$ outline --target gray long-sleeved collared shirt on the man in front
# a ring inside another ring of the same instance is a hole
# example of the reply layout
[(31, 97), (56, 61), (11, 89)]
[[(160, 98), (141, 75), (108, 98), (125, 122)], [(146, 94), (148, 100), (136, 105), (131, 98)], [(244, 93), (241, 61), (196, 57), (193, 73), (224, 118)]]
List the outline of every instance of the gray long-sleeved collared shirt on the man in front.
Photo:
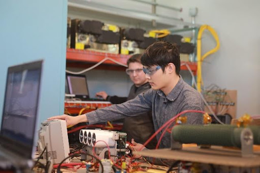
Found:
[[(132, 100), (92, 111), (87, 113), (86, 116), (89, 124), (95, 124), (143, 114), (150, 110), (152, 111), (153, 124), (156, 131), (169, 119), (182, 111), (204, 111), (204, 103), (200, 93), (185, 83), (180, 77), (174, 89), (167, 96), (161, 90), (149, 89)], [(187, 116), (188, 124), (203, 123), (203, 115), (200, 113), (186, 113), (184, 115)], [(162, 131), (157, 134), (157, 140), (159, 140), (161, 133)], [(166, 132), (159, 148), (170, 147), (170, 133)]]

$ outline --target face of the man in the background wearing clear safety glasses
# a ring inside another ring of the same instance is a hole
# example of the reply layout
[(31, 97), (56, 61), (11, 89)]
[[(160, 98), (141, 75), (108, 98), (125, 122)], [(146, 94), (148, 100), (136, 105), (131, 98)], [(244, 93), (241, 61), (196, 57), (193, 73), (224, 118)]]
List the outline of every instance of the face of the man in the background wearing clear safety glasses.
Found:
[(128, 72), (130, 79), (137, 87), (145, 84), (148, 81), (145, 78), (145, 73), (143, 72), (143, 65), (139, 62), (129, 63)]

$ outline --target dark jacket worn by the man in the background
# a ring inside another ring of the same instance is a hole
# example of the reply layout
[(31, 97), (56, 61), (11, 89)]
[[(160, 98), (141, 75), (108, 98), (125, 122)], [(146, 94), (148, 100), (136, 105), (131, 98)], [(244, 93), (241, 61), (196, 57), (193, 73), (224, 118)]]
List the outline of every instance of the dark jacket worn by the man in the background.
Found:
[[(140, 87), (133, 85), (129, 91), (128, 97), (108, 96), (107, 100), (113, 104), (120, 104), (135, 98), (138, 94), (143, 93), (150, 88), (151, 86), (149, 83), (145, 83)], [(126, 117), (123, 120), (122, 131), (127, 133), (127, 141), (134, 139), (135, 142), (144, 144), (154, 133), (151, 111), (134, 117)], [(146, 147), (148, 149), (154, 149), (156, 144), (157, 141), (154, 138)]]

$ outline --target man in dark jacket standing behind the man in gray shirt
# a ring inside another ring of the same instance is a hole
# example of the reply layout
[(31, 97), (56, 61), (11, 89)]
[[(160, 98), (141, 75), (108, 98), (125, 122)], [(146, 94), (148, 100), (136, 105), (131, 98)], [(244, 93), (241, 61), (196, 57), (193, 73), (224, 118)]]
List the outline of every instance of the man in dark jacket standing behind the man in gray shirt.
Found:
[[(105, 91), (97, 92), (95, 95), (101, 96), (113, 104), (120, 104), (150, 89), (151, 86), (143, 72), (141, 56), (142, 54), (135, 54), (127, 60), (126, 74), (129, 75), (131, 81), (134, 83), (129, 91), (128, 97), (110, 96)], [(142, 115), (124, 118), (122, 131), (127, 133), (128, 140), (134, 139), (137, 143), (145, 143), (154, 133), (151, 111)], [(156, 139), (154, 138), (146, 147), (148, 149), (154, 149), (155, 146)]]

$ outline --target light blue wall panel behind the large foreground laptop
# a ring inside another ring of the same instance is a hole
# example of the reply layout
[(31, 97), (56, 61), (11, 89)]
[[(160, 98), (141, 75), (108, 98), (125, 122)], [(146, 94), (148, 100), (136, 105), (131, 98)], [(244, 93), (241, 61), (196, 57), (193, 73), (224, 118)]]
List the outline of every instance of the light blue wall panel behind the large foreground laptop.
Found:
[(0, 112), (7, 68), (44, 59), (40, 122), (63, 114), (67, 0), (0, 1)]

